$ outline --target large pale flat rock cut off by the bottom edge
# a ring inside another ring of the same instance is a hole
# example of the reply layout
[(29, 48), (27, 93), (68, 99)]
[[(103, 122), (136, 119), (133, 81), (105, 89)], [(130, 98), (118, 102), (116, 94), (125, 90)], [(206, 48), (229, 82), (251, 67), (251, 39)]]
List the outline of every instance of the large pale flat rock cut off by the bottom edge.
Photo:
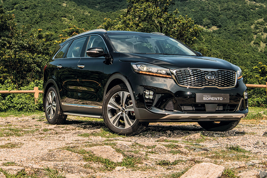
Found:
[(200, 163), (194, 165), (180, 178), (218, 178), (225, 168), (213, 163)]

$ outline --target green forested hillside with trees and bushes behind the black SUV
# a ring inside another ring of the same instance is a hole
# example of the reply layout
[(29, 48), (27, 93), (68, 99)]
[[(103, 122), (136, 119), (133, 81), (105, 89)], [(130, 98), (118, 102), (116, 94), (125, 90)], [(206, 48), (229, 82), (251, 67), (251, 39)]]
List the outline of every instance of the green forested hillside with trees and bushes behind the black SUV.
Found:
[[(267, 81), (266, 0), (1, 0), (0, 90), (41, 89), (55, 46), (96, 28), (163, 32), (241, 67), (247, 84)], [(266, 89), (248, 92), (249, 106), (267, 107)], [(41, 103), (32, 94), (0, 95), (0, 111)]]

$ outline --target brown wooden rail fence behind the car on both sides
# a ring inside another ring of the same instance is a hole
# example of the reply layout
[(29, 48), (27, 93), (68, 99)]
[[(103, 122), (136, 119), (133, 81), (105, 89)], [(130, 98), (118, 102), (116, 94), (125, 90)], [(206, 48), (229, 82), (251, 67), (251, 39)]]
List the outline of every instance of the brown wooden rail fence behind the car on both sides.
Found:
[[(267, 95), (267, 82), (266, 85), (253, 85), (253, 84), (246, 84), (247, 88), (266, 88), (266, 95)], [(0, 94), (6, 93), (34, 93), (34, 98), (37, 99), (39, 97), (39, 93), (43, 93), (42, 90), (39, 90), (38, 87), (34, 87), (34, 90), (0, 90)]]

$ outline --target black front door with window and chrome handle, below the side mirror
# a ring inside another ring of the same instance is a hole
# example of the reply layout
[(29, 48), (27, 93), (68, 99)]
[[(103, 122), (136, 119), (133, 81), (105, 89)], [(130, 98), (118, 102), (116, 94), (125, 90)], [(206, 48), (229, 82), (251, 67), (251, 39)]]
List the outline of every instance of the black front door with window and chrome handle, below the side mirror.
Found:
[(101, 36), (91, 35), (77, 68), (77, 107), (81, 113), (101, 115), (105, 57), (88, 57), (85, 52), (91, 47), (102, 47), (107, 53)]

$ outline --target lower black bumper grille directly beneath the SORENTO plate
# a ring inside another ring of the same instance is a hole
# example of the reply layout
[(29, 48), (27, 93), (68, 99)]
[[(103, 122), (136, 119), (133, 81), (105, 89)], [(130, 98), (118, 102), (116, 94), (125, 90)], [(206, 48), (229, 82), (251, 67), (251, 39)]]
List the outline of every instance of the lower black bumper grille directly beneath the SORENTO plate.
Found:
[[(181, 104), (184, 112), (206, 112), (205, 104)], [(238, 104), (217, 104), (215, 112), (234, 112)]]

